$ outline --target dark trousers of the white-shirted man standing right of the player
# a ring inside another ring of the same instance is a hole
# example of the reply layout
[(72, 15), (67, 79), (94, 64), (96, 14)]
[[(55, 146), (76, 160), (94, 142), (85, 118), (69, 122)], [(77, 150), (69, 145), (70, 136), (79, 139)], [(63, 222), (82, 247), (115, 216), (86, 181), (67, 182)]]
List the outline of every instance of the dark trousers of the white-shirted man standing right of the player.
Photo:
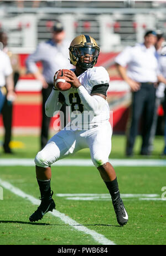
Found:
[(131, 125), (127, 136), (127, 154), (132, 154), (134, 142), (138, 134), (139, 120), (142, 116), (142, 154), (148, 153), (149, 137), (153, 123), (155, 108), (155, 87), (153, 83), (141, 83), (141, 89), (133, 92)]

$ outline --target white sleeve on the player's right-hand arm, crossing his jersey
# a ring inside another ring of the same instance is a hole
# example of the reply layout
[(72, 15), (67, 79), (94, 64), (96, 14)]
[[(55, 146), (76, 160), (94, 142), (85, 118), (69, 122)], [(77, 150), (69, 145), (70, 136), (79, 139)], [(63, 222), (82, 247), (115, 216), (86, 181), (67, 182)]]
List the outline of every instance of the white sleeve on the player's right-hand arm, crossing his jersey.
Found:
[(84, 86), (80, 86), (77, 88), (82, 104), (84, 104), (85, 108), (88, 111), (94, 111), (94, 114), (97, 115), (100, 112), (103, 105), (105, 105), (105, 99), (101, 96), (94, 95), (91, 96), (87, 92)]

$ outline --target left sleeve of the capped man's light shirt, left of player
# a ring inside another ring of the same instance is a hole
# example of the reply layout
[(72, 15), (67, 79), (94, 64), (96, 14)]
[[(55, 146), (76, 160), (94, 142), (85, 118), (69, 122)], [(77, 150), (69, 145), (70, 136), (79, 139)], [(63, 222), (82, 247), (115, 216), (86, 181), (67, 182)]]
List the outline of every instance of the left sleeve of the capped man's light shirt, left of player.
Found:
[(42, 45), (39, 45), (37, 47), (37, 50), (31, 55), (29, 55), (27, 60), (25, 61), (28, 72), (35, 73), (38, 71), (38, 67), (35, 64), (35, 62), (42, 61), (42, 56), (43, 56)]

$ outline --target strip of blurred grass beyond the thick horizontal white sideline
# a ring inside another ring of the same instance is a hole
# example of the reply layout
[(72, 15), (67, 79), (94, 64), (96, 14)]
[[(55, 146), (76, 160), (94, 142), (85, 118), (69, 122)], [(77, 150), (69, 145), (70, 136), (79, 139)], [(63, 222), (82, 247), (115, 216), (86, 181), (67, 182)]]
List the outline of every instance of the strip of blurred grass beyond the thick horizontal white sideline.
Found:
[[(2, 136), (0, 136), (0, 145), (3, 140)], [(13, 137), (14, 144), (19, 142), (21, 145), (16, 145), (13, 149), (14, 155), (12, 158), (34, 158), (35, 154), (39, 151), (39, 137), (38, 136), (14, 136)], [(112, 136), (112, 151), (110, 157), (112, 159), (122, 159), (125, 158), (125, 145), (126, 145), (126, 137), (123, 135), (113, 135)], [(136, 144), (134, 147), (134, 156), (133, 159), (141, 159), (142, 156), (139, 155), (141, 149), (141, 137), (138, 136), (136, 139)], [(164, 137), (156, 136), (154, 140), (154, 150), (152, 152), (152, 156), (149, 157), (151, 159), (163, 159), (160, 155), (162, 154), (164, 149)], [(0, 157), (8, 158), (10, 157), (7, 154), (3, 154), (3, 151), (0, 147)], [(84, 149), (74, 156), (70, 156), (71, 158), (89, 158), (90, 152), (89, 149)], [(164, 157), (166, 159), (166, 156)]]

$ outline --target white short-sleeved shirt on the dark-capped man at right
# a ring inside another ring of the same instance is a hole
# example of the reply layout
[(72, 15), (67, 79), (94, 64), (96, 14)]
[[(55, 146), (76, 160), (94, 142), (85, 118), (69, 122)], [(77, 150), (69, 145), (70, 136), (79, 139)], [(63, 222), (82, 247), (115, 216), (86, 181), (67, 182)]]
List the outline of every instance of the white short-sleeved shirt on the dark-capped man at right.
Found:
[(126, 47), (116, 58), (119, 65), (127, 66), (127, 75), (136, 82), (157, 82), (159, 75), (155, 47), (146, 48), (143, 43)]

